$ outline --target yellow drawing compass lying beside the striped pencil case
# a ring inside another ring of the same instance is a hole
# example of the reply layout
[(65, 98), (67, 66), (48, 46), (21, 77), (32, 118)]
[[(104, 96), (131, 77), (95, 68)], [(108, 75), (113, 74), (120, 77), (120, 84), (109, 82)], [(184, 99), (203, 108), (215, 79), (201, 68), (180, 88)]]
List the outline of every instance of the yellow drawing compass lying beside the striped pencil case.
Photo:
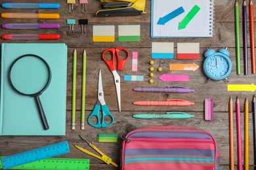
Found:
[(96, 155), (96, 154), (93, 154), (92, 152), (90, 152), (90, 151), (88, 151), (88, 150), (85, 150), (84, 148), (81, 148), (80, 146), (75, 145), (75, 148), (77, 148), (77, 149), (81, 150), (82, 152), (85, 152), (86, 154), (89, 154), (89, 155), (91, 155), (91, 156), (93, 156), (93, 157), (95, 157), (95, 158), (98, 158), (99, 160), (104, 161), (104, 162), (107, 163), (108, 165), (109, 165), (109, 164), (112, 164), (112, 165), (114, 165), (115, 167), (118, 167), (118, 165), (117, 165), (116, 163), (114, 163), (110, 157), (108, 157), (108, 156), (106, 156), (105, 154), (103, 154), (103, 152), (101, 152), (98, 148), (96, 148), (96, 146), (95, 146), (94, 144), (89, 143), (86, 139), (83, 139), (83, 137), (81, 137), (81, 135), (79, 135), (79, 137), (80, 137), (83, 141), (85, 141), (86, 143), (88, 143), (89, 146), (91, 146), (94, 150), (96, 150), (96, 151), (101, 155), (101, 157), (98, 156), (98, 155)]

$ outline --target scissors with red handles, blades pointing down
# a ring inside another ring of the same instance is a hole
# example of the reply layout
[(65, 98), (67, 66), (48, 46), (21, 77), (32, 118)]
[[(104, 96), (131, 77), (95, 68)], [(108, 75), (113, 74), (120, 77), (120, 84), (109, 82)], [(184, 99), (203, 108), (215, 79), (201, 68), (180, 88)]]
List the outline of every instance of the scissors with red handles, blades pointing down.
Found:
[[(121, 51), (126, 52), (126, 57), (124, 59), (121, 59), (119, 56), (119, 53)], [(112, 59), (108, 60), (105, 58), (106, 52), (112, 53)], [(115, 56), (117, 57), (117, 69), (115, 64)], [(108, 65), (108, 68), (112, 72), (112, 75), (114, 76), (114, 81), (116, 85), (116, 96), (117, 96), (117, 107), (118, 112), (121, 112), (121, 87), (120, 87), (120, 75), (121, 71), (123, 71), (123, 67), (125, 66), (125, 62), (129, 58), (129, 52), (125, 48), (117, 47), (117, 48), (108, 48), (105, 50), (102, 54), (102, 59), (106, 62)]]

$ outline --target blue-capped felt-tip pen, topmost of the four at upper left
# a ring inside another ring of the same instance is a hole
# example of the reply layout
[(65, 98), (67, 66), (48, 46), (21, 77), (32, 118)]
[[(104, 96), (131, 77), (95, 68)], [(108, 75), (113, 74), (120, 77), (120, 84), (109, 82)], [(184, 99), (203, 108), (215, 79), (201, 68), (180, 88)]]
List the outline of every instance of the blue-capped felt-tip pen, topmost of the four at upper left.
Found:
[(58, 3), (2, 3), (4, 9), (59, 9)]

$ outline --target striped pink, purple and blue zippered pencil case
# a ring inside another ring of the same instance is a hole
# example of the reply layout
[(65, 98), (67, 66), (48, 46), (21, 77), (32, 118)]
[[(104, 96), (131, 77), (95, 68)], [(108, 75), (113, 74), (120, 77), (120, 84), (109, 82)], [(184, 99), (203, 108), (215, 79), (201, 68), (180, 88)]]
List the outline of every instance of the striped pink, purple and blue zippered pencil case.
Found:
[(221, 154), (210, 133), (194, 127), (149, 126), (123, 137), (121, 169), (219, 169)]

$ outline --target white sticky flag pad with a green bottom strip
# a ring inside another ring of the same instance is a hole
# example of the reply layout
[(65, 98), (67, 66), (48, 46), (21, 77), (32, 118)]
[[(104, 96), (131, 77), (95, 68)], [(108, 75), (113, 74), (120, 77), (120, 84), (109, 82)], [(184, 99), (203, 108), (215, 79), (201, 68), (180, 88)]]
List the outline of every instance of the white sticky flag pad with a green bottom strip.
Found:
[(140, 25), (118, 25), (118, 41), (140, 41)]

